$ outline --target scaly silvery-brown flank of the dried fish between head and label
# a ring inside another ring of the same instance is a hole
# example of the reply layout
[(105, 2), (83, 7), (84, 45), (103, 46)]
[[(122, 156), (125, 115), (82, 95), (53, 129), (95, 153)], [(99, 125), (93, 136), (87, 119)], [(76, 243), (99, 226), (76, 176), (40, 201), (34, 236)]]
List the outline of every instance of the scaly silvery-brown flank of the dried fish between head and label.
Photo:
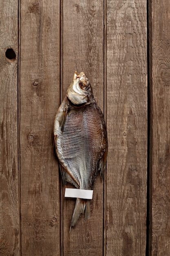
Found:
[(97, 175), (103, 144), (101, 117), (94, 104), (71, 108), (57, 139), (64, 167), (79, 182), (80, 189), (92, 189)]

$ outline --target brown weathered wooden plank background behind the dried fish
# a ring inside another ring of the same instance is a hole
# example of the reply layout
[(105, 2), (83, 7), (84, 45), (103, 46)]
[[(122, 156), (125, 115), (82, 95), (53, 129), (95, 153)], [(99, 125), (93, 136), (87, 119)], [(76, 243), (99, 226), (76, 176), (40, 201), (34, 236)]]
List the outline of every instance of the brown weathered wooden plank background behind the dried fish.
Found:
[[(168, 0), (0, 1), (1, 256), (170, 255), (169, 13)], [(108, 159), (69, 233), (53, 122), (75, 70)]]

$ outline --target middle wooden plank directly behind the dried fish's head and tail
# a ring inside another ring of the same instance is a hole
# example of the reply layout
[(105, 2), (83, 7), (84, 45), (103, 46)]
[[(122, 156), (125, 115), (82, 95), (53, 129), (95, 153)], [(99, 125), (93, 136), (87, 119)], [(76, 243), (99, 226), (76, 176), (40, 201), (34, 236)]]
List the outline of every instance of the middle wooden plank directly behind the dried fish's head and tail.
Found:
[[(104, 109), (104, 11), (103, 2), (63, 0), (63, 96), (75, 70), (85, 72), (99, 107)], [(66, 187), (71, 187), (67, 184)], [(65, 188), (64, 188), (65, 189)], [(70, 229), (75, 200), (64, 198), (63, 255), (103, 255), (103, 182), (95, 182), (91, 217), (82, 216)]]

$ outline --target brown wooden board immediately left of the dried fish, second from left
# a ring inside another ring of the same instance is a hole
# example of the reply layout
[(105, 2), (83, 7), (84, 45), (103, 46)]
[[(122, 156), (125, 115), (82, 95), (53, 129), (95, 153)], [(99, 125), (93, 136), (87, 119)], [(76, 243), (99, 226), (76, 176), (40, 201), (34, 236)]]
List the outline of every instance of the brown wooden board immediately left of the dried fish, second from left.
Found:
[(22, 255), (60, 255), (53, 122), (60, 103), (60, 2), (21, 2)]

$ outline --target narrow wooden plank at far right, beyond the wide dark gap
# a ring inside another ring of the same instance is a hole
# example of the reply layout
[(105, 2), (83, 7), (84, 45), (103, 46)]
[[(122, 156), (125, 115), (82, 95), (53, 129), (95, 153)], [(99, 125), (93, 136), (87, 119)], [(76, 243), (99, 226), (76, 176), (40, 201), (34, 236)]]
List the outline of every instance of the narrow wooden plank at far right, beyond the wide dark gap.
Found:
[(150, 191), (152, 231), (150, 255), (170, 255), (170, 4), (152, 1), (150, 44)]

